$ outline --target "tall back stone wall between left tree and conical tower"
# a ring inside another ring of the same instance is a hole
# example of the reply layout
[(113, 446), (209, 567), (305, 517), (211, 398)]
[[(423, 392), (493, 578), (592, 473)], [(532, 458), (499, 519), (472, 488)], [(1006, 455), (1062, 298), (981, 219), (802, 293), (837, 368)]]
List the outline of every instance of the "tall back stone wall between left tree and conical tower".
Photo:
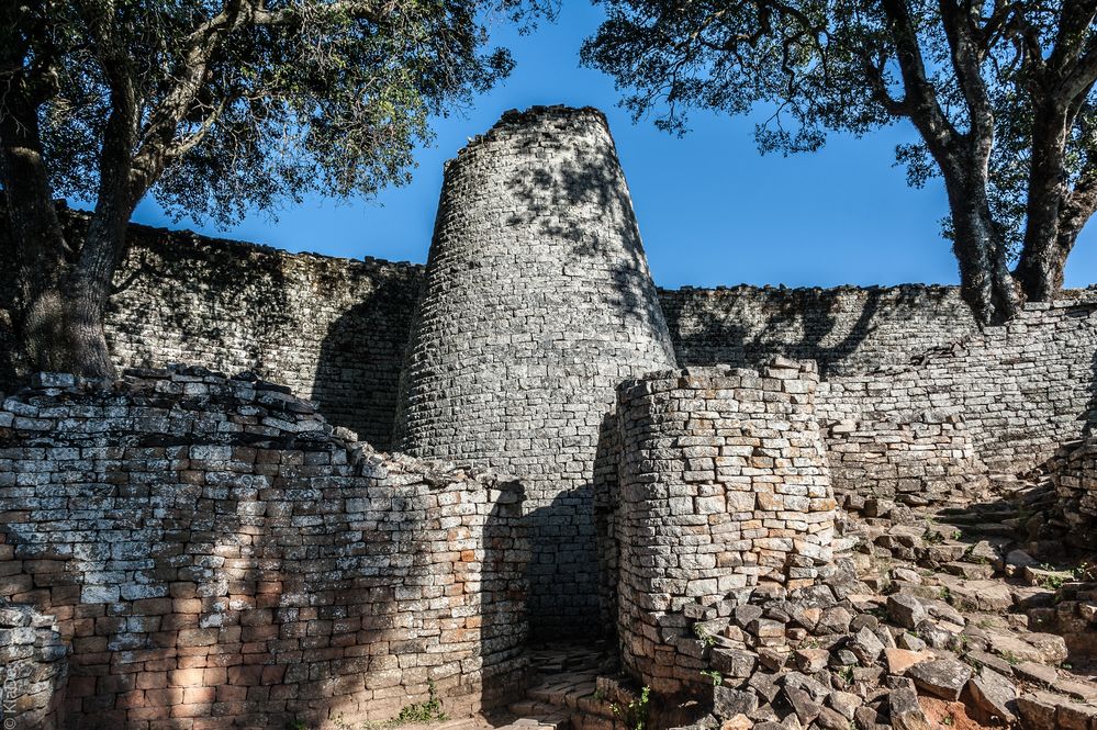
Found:
[[(65, 221), (80, 238), (87, 216), (68, 211)], [(329, 423), (379, 449), (391, 446), (422, 266), (294, 255), (141, 225), (127, 235), (132, 247), (107, 315), (120, 367), (254, 371), (318, 403)], [(0, 353), (11, 352), (3, 319), (0, 312)], [(4, 371), (0, 363), (0, 392), (10, 385)]]

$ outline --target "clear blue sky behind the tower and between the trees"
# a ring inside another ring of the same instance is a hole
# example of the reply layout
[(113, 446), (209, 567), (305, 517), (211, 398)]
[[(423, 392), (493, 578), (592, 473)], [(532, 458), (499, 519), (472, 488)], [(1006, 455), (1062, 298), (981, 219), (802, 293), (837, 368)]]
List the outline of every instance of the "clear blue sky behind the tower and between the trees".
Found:
[[(940, 181), (906, 186), (894, 147), (914, 139), (906, 125), (863, 139), (833, 136), (819, 153), (761, 156), (753, 120), (693, 114), (674, 137), (650, 122), (634, 125), (616, 106), (613, 81), (579, 67), (579, 47), (601, 19), (586, 2), (563, 3), (556, 23), (519, 37), (500, 23), (493, 43), (508, 46), (514, 74), (470, 109), (437, 120), (433, 147), (419, 150), (411, 184), (372, 202), (309, 199), (272, 221), (250, 215), (219, 231), (168, 220), (150, 200), (138, 223), (188, 227), (292, 251), (425, 261), (441, 188), (443, 162), (503, 111), (533, 104), (593, 105), (606, 112), (633, 194), (656, 282), (662, 287), (842, 283), (955, 283), (956, 265), (939, 221)], [(1068, 287), (1097, 282), (1097, 223), (1067, 265)]]

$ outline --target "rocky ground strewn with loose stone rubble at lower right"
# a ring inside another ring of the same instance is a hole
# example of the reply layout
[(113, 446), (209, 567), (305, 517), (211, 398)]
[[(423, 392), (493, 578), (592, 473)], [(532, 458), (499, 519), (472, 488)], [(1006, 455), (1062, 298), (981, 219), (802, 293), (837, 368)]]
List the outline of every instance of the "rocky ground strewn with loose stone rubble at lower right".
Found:
[(1062, 554), (1045, 486), (997, 494), (964, 508), (849, 498), (847, 557), (818, 585), (755, 591), (729, 618), (696, 611), (710, 695), (645, 699), (611, 652), (548, 647), (527, 700), (493, 725), (1097, 730), (1097, 574)]

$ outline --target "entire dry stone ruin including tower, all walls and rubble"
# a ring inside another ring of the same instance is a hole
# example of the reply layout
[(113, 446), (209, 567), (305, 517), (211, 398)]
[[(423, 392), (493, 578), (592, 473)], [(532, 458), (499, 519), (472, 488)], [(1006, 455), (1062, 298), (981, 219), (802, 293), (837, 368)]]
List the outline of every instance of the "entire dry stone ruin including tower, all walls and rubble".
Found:
[(0, 308), (0, 730), (1097, 730), (1097, 290), (659, 291), (562, 106), (426, 267), (131, 237), (120, 380)]

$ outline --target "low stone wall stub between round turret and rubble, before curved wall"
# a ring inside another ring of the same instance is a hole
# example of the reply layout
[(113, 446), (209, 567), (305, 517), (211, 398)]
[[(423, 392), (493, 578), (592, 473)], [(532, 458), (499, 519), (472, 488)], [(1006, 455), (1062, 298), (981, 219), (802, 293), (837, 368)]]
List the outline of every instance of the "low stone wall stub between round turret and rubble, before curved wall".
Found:
[(958, 413), (924, 411), (824, 424), (835, 493), (909, 505), (969, 504), (989, 487)]

